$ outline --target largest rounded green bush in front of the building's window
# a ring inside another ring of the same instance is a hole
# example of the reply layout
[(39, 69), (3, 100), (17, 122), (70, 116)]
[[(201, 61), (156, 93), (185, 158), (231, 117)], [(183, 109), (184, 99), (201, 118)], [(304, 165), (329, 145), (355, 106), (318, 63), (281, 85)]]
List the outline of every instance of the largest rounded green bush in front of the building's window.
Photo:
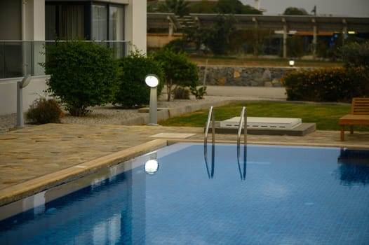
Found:
[(118, 66), (112, 49), (93, 42), (58, 41), (46, 47), (48, 92), (66, 104), (72, 116), (84, 116), (88, 106), (112, 102)]

